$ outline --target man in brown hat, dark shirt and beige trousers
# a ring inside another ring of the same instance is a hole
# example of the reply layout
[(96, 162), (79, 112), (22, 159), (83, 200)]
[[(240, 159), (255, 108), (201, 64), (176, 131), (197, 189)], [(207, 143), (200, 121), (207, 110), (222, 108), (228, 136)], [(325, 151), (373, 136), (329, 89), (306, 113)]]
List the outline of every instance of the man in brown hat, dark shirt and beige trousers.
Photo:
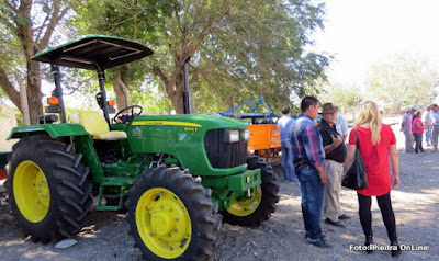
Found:
[(340, 219), (348, 219), (340, 205), (341, 175), (347, 149), (341, 134), (337, 132), (336, 120), (338, 110), (333, 103), (325, 103), (322, 106), (322, 122), (317, 129), (323, 139), (325, 150), (325, 171), (328, 175), (328, 183), (325, 189), (325, 223), (345, 227)]

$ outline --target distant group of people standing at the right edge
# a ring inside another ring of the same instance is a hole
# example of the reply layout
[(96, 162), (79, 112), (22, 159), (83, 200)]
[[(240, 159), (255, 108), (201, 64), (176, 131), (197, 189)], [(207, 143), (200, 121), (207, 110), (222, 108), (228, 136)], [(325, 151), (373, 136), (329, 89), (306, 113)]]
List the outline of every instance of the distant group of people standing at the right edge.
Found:
[(439, 136), (439, 106), (431, 104), (425, 112), (417, 111), (415, 107), (405, 107), (405, 114), (401, 124), (401, 130), (405, 136), (406, 152), (425, 152), (423, 147), (423, 136), (427, 146), (432, 146), (431, 152), (438, 150)]

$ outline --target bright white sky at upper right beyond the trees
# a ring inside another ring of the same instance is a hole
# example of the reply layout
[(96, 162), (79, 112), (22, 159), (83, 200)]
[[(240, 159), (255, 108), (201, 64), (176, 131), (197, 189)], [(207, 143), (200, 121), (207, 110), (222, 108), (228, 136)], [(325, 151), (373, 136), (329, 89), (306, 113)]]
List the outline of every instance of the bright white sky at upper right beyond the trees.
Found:
[[(335, 55), (329, 80), (362, 86), (374, 64), (402, 54), (439, 61), (439, 0), (326, 0), (315, 50)], [(438, 63), (439, 64), (439, 63)]]

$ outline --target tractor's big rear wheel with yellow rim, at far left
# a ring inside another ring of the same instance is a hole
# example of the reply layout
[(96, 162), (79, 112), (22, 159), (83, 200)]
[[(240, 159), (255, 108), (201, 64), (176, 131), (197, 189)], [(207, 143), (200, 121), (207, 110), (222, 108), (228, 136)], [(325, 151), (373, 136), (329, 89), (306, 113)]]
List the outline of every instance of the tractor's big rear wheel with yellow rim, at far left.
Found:
[(92, 205), (88, 168), (71, 145), (47, 135), (22, 138), (12, 148), (5, 188), (12, 213), (33, 241), (59, 241), (75, 235)]

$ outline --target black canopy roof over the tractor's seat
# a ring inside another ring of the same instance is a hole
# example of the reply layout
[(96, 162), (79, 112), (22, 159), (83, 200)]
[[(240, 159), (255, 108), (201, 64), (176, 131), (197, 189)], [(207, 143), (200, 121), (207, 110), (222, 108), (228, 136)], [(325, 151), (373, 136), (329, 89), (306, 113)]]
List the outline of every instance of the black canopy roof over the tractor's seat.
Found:
[(153, 50), (148, 47), (130, 39), (87, 35), (40, 52), (32, 59), (58, 66), (103, 71), (151, 54)]

